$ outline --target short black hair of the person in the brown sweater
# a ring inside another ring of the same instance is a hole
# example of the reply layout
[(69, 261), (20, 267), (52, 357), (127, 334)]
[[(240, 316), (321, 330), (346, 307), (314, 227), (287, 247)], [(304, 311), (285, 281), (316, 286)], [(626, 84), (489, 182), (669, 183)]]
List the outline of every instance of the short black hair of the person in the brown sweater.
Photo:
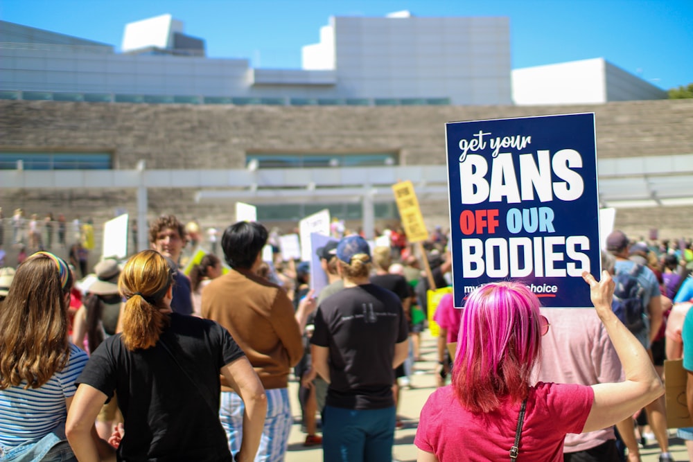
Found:
[(250, 269), (267, 244), (267, 228), (258, 222), (237, 222), (224, 231), (221, 248), (231, 268)]

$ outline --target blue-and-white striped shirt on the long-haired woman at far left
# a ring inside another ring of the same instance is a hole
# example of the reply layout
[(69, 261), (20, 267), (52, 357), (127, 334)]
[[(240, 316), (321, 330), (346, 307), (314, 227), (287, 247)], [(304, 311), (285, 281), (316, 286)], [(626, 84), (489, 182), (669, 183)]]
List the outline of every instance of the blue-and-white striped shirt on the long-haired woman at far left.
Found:
[(75, 380), (87, 364), (87, 353), (70, 344), (67, 366), (37, 389), (0, 390), (0, 445), (15, 447), (37, 441), (67, 418), (65, 398), (77, 391)]

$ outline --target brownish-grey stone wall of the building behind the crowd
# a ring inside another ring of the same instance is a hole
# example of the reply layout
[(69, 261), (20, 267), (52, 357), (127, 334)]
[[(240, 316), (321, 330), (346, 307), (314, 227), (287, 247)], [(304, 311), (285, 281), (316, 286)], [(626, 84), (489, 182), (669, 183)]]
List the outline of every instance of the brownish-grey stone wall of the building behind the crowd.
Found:
[[(397, 152), (403, 165), (444, 164), (449, 121), (595, 112), (600, 159), (693, 153), (693, 100), (605, 105), (483, 107), (280, 107), (145, 105), (0, 100), (0, 150), (111, 152), (114, 168), (242, 168), (252, 152)], [(173, 186), (173, 185), (172, 185)], [(150, 190), (150, 217), (176, 213), (203, 226), (225, 226), (233, 203), (195, 204), (193, 191)], [(93, 217), (96, 224), (125, 208), (134, 190), (8, 190), (5, 216), (28, 213)], [(422, 201), (427, 224), (447, 226), (448, 204)], [(295, 224), (282, 224), (287, 231)], [(354, 228), (356, 223), (350, 224)], [(385, 224), (379, 223), (378, 226)], [(616, 226), (633, 236), (693, 235), (693, 206), (619, 210)]]

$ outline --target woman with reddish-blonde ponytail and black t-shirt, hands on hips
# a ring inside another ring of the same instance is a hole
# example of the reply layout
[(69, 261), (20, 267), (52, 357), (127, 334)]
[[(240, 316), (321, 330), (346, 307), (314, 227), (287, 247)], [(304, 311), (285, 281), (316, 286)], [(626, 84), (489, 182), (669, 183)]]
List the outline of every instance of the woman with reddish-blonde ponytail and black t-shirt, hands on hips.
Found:
[(80, 460), (96, 460), (88, 423), (116, 392), (125, 418), (119, 459), (231, 461), (218, 416), (220, 374), (245, 402), (236, 460), (254, 459), (267, 409), (262, 384), (227, 330), (171, 310), (172, 283), (157, 251), (141, 251), (125, 264), (118, 283), (127, 299), (123, 331), (91, 353), (67, 418)]

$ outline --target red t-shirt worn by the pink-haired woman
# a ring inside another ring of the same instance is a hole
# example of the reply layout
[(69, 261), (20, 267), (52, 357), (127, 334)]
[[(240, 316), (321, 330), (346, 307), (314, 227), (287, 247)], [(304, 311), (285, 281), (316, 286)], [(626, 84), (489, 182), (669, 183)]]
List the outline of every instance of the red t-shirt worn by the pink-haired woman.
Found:
[[(582, 431), (593, 401), (593, 389), (584, 385), (539, 382), (532, 387), (518, 459), (562, 462), (565, 434)], [(448, 385), (434, 391), (421, 409), (414, 444), (440, 462), (508, 460), (519, 414), (520, 403), (472, 414)]]

